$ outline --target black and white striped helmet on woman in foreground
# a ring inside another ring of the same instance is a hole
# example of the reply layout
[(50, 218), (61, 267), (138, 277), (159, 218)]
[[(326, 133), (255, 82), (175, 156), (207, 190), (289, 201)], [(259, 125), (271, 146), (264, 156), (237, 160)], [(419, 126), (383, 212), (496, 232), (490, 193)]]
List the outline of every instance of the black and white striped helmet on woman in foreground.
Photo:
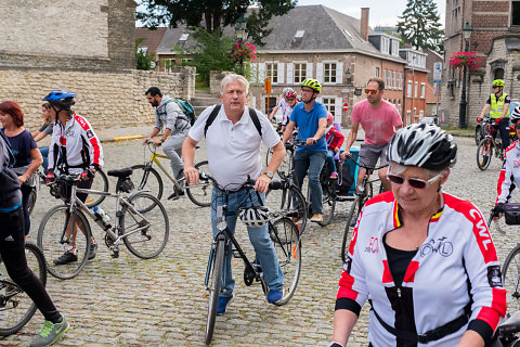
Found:
[(435, 125), (413, 124), (393, 134), (388, 159), (441, 171), (457, 162), (457, 145), (451, 134)]

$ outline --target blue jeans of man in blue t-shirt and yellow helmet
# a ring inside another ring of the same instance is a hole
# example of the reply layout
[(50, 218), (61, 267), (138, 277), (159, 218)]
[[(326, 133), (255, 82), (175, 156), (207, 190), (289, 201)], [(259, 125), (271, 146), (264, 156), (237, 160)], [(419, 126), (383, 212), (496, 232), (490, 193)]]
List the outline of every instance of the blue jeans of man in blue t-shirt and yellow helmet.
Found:
[(295, 155), (295, 171), (298, 180), (298, 185), (303, 184), (303, 178), (309, 171), (309, 189), (311, 190), (311, 209), (313, 214), (322, 214), (322, 184), (320, 184), (320, 174), (322, 172), (323, 164), (326, 157), (325, 151), (302, 151), (296, 152)]

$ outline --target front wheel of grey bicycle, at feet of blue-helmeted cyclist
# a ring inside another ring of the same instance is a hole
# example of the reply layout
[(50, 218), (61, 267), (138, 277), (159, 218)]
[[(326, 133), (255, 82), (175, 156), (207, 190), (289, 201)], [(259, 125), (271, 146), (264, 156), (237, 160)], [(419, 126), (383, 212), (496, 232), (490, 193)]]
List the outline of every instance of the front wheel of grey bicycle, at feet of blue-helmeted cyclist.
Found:
[(92, 237), (89, 221), (83, 213), (77, 209), (76, 223), (79, 230), (73, 252), (76, 256), (70, 256), (70, 261), (66, 264), (58, 260), (69, 250), (67, 247), (72, 245), (69, 235), (73, 216), (68, 209), (67, 205), (54, 206), (43, 216), (38, 229), (38, 246), (46, 256), (47, 270), (61, 280), (73, 279), (84, 268)]

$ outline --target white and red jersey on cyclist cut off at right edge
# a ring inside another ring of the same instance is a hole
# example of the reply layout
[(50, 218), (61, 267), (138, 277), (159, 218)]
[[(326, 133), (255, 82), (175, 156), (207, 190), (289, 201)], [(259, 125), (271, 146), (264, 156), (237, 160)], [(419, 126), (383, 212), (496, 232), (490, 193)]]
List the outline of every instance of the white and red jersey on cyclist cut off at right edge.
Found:
[(504, 154), (504, 164), (502, 165), (498, 183), (496, 187), (496, 203), (507, 203), (512, 197), (512, 191), (520, 183), (520, 142), (512, 142)]

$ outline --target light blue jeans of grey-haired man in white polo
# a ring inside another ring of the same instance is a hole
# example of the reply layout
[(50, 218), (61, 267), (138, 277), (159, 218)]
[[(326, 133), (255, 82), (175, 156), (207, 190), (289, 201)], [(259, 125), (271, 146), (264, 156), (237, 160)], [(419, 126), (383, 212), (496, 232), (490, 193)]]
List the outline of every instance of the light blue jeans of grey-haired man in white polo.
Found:
[[(264, 200), (264, 195), (260, 194)], [(217, 206), (227, 205), (225, 221), (227, 229), (232, 234), (235, 234), (236, 219), (238, 208), (243, 206), (260, 205), (257, 193), (251, 190), (239, 190), (238, 192), (230, 193), (227, 195), (227, 203), (225, 202), (225, 193), (214, 189), (211, 192), (211, 228), (213, 230), (213, 237), (220, 232), (217, 229)], [(268, 224), (260, 228), (247, 228), (249, 241), (255, 248), (257, 260), (260, 262), (263, 271), (263, 279), (270, 290), (282, 290), (284, 286), (284, 273), (280, 267), (276, 252), (273, 242), (269, 236)], [(235, 280), (231, 271), (231, 259), (233, 254), (229, 252), (224, 257), (224, 271), (222, 273), (222, 288), (224, 293), (221, 296), (231, 296), (235, 286)], [(250, 259), (252, 260), (252, 259)]]

